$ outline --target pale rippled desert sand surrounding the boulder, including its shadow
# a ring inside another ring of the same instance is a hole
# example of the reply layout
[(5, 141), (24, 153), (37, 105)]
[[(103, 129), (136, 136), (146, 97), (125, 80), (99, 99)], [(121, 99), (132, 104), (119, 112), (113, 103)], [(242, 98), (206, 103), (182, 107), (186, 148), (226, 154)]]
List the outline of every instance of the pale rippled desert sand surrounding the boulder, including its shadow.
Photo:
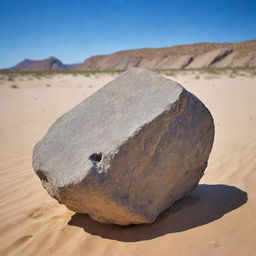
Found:
[(216, 136), (201, 184), (154, 224), (99, 224), (59, 205), (42, 188), (31, 167), (34, 144), (59, 115), (113, 78), (0, 80), (0, 255), (256, 255), (252, 77), (173, 78), (210, 109)]

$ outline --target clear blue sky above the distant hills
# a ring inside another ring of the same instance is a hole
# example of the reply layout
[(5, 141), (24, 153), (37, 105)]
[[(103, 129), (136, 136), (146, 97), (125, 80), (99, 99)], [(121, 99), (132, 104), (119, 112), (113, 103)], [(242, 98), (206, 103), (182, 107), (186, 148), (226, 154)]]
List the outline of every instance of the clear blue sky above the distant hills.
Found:
[(0, 0), (0, 68), (119, 50), (256, 39), (255, 0)]

